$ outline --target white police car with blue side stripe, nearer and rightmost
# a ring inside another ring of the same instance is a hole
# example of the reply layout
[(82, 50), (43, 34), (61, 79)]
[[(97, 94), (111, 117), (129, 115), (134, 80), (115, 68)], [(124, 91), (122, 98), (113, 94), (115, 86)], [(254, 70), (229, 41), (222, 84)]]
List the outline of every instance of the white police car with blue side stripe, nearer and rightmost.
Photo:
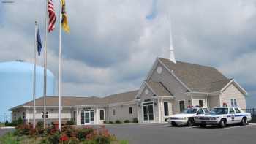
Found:
[(210, 124), (218, 125), (221, 128), (227, 126), (227, 124), (246, 125), (251, 120), (251, 113), (244, 113), (238, 107), (215, 107), (210, 113), (195, 118), (195, 121), (202, 127)]

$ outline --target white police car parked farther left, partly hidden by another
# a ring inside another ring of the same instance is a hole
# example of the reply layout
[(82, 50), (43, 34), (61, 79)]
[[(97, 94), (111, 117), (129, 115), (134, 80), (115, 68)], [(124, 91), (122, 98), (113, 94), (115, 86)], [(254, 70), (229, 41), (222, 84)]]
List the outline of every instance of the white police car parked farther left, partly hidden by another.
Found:
[(177, 126), (177, 124), (192, 126), (195, 124), (195, 116), (204, 115), (208, 112), (209, 110), (206, 107), (191, 107), (181, 113), (170, 115), (167, 121), (172, 126)]

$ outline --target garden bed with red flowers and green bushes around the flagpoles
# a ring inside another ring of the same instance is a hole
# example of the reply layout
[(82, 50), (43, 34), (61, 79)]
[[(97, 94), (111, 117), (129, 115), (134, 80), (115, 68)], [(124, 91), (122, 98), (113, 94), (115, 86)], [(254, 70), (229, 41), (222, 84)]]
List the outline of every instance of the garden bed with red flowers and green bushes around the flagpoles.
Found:
[(4, 144), (127, 144), (127, 141), (118, 141), (115, 135), (110, 134), (104, 126), (94, 129), (90, 126), (76, 127), (70, 125), (61, 126), (54, 124), (43, 129), (42, 122), (37, 123), (35, 129), (31, 124), (20, 124), (16, 126), (14, 132), (5, 134), (0, 138), (0, 143)]

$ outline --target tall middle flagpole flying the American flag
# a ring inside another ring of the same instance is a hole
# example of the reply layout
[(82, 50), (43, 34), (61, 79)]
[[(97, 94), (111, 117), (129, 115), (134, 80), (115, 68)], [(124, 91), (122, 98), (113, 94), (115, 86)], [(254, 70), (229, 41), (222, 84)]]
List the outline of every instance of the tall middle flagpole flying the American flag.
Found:
[(46, 10), (45, 10), (45, 58), (44, 58), (44, 129), (46, 133), (46, 76), (47, 76), (47, 33), (48, 33), (48, 0), (46, 0)]

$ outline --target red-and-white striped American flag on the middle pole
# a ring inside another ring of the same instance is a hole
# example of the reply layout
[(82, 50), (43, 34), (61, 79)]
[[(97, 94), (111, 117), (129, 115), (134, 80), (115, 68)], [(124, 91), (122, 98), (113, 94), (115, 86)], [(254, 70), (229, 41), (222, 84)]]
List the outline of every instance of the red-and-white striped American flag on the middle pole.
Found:
[(49, 27), (48, 31), (51, 32), (55, 29), (56, 15), (53, 7), (53, 0), (48, 0), (48, 14), (49, 14)]

